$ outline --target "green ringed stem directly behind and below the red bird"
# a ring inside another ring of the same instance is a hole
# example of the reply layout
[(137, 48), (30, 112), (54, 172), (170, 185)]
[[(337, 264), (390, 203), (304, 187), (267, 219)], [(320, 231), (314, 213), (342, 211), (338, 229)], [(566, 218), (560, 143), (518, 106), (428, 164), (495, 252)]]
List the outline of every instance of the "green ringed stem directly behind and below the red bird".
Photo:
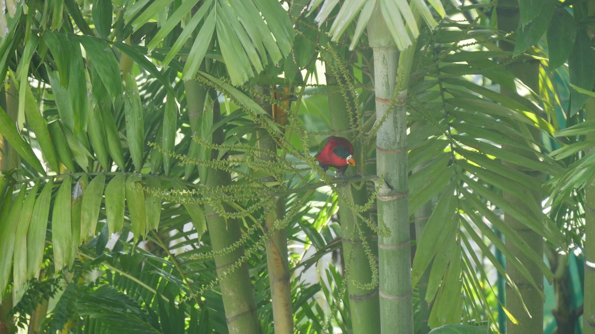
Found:
[[(349, 57), (346, 57), (349, 58)], [(346, 59), (344, 58), (344, 59)], [(330, 59), (329, 59), (330, 60)], [(338, 60), (338, 59), (337, 59)], [(326, 80), (328, 86), (337, 84), (337, 77), (333, 73), (339, 71), (340, 64), (326, 65)], [(331, 68), (334, 67), (334, 68)], [(343, 81), (348, 80), (346, 75), (340, 79), (342, 90), (346, 89)], [(349, 93), (333, 93), (328, 94), (328, 110), (330, 117), (330, 124), (332, 131), (348, 130), (351, 127), (351, 120), (355, 114), (355, 107), (349, 103), (349, 99), (345, 98)], [(361, 153), (361, 146), (354, 140), (352, 132), (342, 132), (341, 136), (346, 137), (351, 141), (355, 150), (356, 157), (363, 157)], [(356, 167), (359, 171), (364, 171), (365, 162), (362, 159), (356, 162)], [(348, 168), (347, 174), (355, 174), (355, 168)], [(349, 298), (349, 307), (351, 313), (352, 333), (379, 333), (380, 332), (380, 303), (378, 301), (378, 285), (374, 284), (374, 272), (376, 272), (377, 264), (373, 263), (374, 268), (366, 254), (365, 247), (369, 247), (374, 257), (378, 255), (377, 246), (375, 245), (374, 233), (368, 227), (367, 223), (358, 219), (354, 208), (350, 207), (349, 203), (353, 202), (360, 206), (367, 202), (368, 196), (366, 187), (356, 189), (352, 184), (340, 187), (339, 196), (339, 222), (342, 231), (342, 246), (345, 263), (345, 270), (347, 276), (347, 295)]]

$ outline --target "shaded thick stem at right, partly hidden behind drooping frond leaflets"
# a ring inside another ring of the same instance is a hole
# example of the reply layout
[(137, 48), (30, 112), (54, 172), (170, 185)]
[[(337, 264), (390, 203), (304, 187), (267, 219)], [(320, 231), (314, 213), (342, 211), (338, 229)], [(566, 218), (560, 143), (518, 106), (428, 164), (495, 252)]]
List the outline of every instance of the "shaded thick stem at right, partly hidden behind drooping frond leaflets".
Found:
[[(504, 0), (498, 2), (497, 7), (497, 18), (498, 18), (498, 29), (502, 31), (515, 31), (519, 24), (519, 8), (516, 0)], [(503, 51), (513, 51), (515, 46), (504, 40), (500, 41), (500, 48)], [(518, 77), (528, 87), (533, 89), (535, 92), (539, 90), (539, 62), (537, 59), (520, 58), (507, 66), (507, 69), (511, 71), (515, 77)], [(516, 96), (516, 92), (511, 92), (505, 87), (500, 87), (500, 92), (505, 96)], [(519, 127), (524, 125), (519, 124)], [(536, 128), (530, 129), (531, 134), (536, 142), (540, 141), (540, 132)], [(513, 146), (503, 146), (503, 149), (515, 152), (516, 149)], [(522, 154), (522, 153), (519, 153)], [(541, 173), (538, 171), (531, 171), (523, 168), (522, 166), (515, 165), (510, 162), (503, 162), (503, 165), (509, 168), (515, 168), (519, 171), (524, 172), (531, 178), (541, 178)], [(506, 201), (515, 203), (518, 198), (510, 193), (503, 193), (503, 197)], [(538, 193), (533, 193), (533, 196), (524, 198), (527, 206), (540, 207), (541, 197)], [(533, 203), (529, 203), (532, 201)], [(513, 218), (512, 215), (505, 213), (505, 223), (511, 227), (519, 237), (527, 243), (527, 245), (533, 249), (538, 256), (543, 258), (543, 237), (537, 232), (527, 228), (519, 220)], [(506, 308), (508, 311), (518, 320), (518, 324), (508, 321), (506, 324), (506, 333), (508, 334), (526, 334), (526, 333), (543, 333), (543, 273), (537, 263), (531, 260), (530, 257), (526, 256), (523, 251), (511, 243), (507, 243), (506, 247), (511, 250), (512, 254), (515, 254), (516, 259), (520, 260), (522, 264), (527, 268), (531, 275), (531, 278), (536, 283), (539, 289), (535, 289), (533, 285), (523, 276), (520, 270), (516, 268), (509, 259), (506, 259), (506, 272), (508, 273), (512, 282), (516, 283), (519, 292), (521, 293), (522, 301), (516, 297), (513, 293), (512, 288), (506, 285)], [(526, 305), (527, 311), (524, 306)]]

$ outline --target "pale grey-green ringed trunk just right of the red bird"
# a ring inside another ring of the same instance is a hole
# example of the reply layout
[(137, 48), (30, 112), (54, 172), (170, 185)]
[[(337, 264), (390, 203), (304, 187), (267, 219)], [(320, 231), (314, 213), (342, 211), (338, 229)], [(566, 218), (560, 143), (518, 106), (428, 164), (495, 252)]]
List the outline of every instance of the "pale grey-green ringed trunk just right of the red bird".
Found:
[(382, 122), (376, 137), (377, 174), (384, 175), (386, 181), (377, 195), (378, 220), (390, 231), (390, 235), (378, 237), (381, 332), (411, 334), (414, 320), (405, 102), (415, 49), (410, 46), (399, 55), (378, 6), (368, 23), (368, 40), (374, 52), (376, 118)]

